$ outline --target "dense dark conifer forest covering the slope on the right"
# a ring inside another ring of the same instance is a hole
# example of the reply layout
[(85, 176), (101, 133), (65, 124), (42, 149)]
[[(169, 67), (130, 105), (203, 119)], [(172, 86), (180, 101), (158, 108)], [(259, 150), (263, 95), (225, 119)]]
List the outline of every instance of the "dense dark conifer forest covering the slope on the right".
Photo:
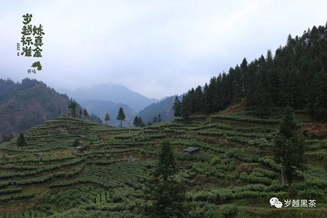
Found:
[[(209, 84), (192, 88), (183, 96), (180, 114), (212, 113), (237, 104), (245, 97), (259, 111), (290, 105), (303, 110), (314, 122), (327, 121), (327, 27), (287, 38), (272, 55), (230, 67)], [(177, 105), (177, 102), (176, 104)]]

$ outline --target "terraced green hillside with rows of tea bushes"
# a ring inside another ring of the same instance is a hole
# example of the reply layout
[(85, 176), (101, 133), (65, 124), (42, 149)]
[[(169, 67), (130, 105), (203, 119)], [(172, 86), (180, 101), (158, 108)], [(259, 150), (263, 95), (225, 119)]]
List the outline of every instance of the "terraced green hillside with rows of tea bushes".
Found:
[[(147, 181), (164, 139), (171, 141), (177, 158), (177, 180), (186, 186), (186, 217), (325, 217), (323, 132), (297, 114), (307, 136), (307, 163), (291, 186), (281, 185), (271, 150), (281, 117), (260, 118), (246, 108), (227, 111), (130, 132), (72, 117), (35, 126), (25, 131), (23, 152), (17, 138), (0, 144), (0, 217), (145, 217), (142, 208), (151, 205)], [(275, 114), (280, 114), (277, 109)], [(75, 150), (76, 139), (86, 147), (84, 153)], [(201, 151), (183, 154), (189, 147)], [(272, 197), (283, 203), (314, 199), (316, 205), (274, 208)]]

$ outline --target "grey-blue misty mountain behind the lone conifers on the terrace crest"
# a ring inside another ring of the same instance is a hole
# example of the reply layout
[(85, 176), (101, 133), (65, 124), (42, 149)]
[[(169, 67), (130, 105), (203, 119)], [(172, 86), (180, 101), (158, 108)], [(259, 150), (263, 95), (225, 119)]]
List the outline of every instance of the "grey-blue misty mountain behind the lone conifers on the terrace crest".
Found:
[(123, 121), (123, 127), (128, 127), (128, 123), (132, 126), (133, 119), (136, 116), (136, 112), (133, 111), (128, 105), (119, 103), (113, 103), (110, 101), (101, 101), (101, 100), (83, 100), (80, 101), (81, 105), (87, 109), (89, 113), (94, 113), (104, 120), (106, 113), (110, 115), (110, 126), (120, 126), (120, 121), (116, 119), (118, 115), (118, 110), (120, 107), (124, 109), (126, 120)]

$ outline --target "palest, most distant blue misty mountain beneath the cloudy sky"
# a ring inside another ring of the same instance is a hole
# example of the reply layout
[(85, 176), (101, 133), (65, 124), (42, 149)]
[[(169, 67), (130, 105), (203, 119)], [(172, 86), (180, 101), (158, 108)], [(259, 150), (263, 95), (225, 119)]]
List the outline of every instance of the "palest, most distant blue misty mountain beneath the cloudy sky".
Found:
[(84, 100), (101, 100), (113, 103), (122, 103), (128, 105), (135, 112), (138, 112), (146, 106), (159, 102), (157, 99), (149, 99), (146, 96), (131, 91), (124, 85), (113, 83), (100, 84), (94, 87), (83, 87), (75, 90), (62, 90), (70, 96), (74, 96), (79, 102)]

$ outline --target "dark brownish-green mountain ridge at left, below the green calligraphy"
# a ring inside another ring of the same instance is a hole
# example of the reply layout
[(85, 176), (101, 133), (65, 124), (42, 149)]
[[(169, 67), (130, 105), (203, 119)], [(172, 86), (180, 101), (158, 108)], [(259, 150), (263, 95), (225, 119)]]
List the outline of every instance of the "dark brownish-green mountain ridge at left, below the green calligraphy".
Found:
[[(3, 135), (17, 135), (45, 120), (70, 112), (68, 104), (72, 99), (37, 80), (26, 78), (21, 83), (0, 80), (0, 90), (0, 140)], [(82, 107), (77, 103), (77, 111), (80, 109)], [(89, 119), (102, 124), (94, 114)]]

